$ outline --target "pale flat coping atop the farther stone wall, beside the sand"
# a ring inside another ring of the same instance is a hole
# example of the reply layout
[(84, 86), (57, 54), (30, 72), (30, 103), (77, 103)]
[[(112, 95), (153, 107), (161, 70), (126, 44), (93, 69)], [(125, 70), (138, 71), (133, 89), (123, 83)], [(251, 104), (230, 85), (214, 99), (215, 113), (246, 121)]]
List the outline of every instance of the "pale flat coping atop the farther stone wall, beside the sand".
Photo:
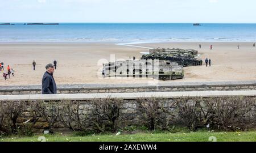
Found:
[[(164, 88), (164, 87), (213, 87), (213, 86), (256, 86), (253, 81), (232, 82), (159, 82), (159, 83), (130, 83), (130, 84), (60, 84), (57, 89), (64, 90), (101, 90), (101, 89), (128, 89), (128, 88)], [(0, 86), (0, 92), (8, 91), (41, 91), (40, 85), (33, 86)]]

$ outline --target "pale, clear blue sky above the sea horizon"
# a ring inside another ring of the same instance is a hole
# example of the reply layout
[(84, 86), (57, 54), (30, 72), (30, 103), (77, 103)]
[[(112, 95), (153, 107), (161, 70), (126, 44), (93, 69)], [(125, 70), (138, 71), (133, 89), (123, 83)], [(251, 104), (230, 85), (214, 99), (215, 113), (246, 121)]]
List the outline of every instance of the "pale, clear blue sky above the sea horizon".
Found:
[(0, 23), (256, 23), (255, 0), (0, 0)]

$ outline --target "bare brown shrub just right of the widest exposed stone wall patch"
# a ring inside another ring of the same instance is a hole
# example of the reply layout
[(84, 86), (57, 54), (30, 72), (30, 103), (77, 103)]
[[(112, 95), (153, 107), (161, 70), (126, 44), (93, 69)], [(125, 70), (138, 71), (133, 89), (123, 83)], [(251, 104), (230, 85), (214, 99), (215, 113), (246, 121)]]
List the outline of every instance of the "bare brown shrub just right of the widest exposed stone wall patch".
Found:
[(143, 124), (150, 130), (159, 128), (167, 130), (170, 120), (172, 119), (172, 111), (175, 103), (164, 106), (164, 99), (156, 99), (154, 97), (148, 99), (138, 99), (137, 111), (141, 114)]

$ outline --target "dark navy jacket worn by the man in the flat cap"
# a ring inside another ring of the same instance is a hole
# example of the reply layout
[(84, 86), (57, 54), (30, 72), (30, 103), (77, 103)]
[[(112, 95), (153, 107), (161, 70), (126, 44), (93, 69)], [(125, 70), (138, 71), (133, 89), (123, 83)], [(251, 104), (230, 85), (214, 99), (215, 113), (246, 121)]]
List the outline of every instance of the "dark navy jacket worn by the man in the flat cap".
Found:
[(42, 94), (57, 94), (57, 87), (53, 74), (46, 71), (42, 79)]

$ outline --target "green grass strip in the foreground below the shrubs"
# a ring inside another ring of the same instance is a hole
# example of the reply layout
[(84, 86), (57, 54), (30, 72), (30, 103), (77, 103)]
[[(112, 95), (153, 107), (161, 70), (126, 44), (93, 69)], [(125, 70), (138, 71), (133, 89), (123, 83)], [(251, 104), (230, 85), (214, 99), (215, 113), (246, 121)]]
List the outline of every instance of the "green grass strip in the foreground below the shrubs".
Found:
[(74, 134), (54, 135), (36, 134), (32, 137), (9, 136), (0, 138), (0, 142), (38, 142), (38, 137), (46, 137), (49, 142), (208, 142), (214, 136), (218, 142), (256, 142), (256, 131), (248, 132), (209, 132), (197, 131), (189, 133), (137, 133), (137, 134), (90, 134), (79, 137)]

